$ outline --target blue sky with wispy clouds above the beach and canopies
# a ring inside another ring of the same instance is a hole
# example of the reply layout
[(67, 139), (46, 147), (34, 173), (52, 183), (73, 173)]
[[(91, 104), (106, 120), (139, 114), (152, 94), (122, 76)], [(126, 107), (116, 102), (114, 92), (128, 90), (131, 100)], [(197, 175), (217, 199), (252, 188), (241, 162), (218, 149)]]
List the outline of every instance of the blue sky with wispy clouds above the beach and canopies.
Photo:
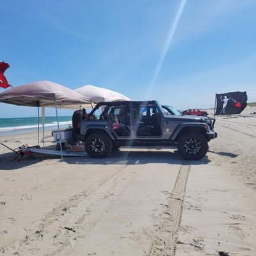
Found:
[[(9, 0), (0, 10), (13, 86), (93, 84), (177, 109), (213, 108), (216, 92), (256, 102), (255, 0)], [(0, 118), (37, 115), (0, 108)]]

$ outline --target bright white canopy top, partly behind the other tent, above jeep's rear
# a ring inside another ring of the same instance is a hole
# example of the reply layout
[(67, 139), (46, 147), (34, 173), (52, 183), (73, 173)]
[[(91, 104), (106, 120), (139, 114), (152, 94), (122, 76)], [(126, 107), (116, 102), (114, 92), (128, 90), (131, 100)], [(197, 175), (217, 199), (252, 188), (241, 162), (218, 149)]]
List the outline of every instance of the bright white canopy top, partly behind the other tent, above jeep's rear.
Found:
[(121, 93), (114, 92), (106, 88), (93, 86), (91, 84), (84, 85), (80, 88), (75, 89), (74, 91), (77, 93), (81, 93), (81, 95), (87, 97), (91, 103), (131, 100), (125, 95), (122, 95)]

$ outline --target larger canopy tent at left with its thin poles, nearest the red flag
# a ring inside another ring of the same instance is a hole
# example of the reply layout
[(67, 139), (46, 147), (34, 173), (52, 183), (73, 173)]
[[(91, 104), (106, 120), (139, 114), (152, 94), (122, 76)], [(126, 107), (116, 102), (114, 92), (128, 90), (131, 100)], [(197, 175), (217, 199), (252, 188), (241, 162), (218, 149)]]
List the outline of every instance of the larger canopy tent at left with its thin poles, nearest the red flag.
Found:
[[(90, 104), (90, 99), (74, 92), (61, 84), (50, 81), (38, 81), (17, 86), (0, 93), (0, 102), (17, 106), (38, 107), (38, 144), (39, 144), (39, 107), (43, 107), (42, 118), (44, 122), (44, 107), (54, 107), (58, 124), (59, 137), (60, 125), (57, 108), (73, 108), (74, 106)], [(44, 132), (44, 127), (43, 127)], [(61, 145), (61, 141), (60, 141)], [(61, 148), (61, 159), (63, 159)]]

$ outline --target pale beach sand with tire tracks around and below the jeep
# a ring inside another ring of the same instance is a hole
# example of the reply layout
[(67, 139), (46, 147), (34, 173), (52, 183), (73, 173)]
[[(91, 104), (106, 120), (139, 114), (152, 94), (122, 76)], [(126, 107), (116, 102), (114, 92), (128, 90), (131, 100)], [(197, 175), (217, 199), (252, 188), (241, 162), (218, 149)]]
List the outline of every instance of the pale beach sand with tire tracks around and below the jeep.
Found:
[(0, 145), (0, 255), (256, 255), (255, 111), (216, 116), (200, 161), (168, 147), (14, 161)]

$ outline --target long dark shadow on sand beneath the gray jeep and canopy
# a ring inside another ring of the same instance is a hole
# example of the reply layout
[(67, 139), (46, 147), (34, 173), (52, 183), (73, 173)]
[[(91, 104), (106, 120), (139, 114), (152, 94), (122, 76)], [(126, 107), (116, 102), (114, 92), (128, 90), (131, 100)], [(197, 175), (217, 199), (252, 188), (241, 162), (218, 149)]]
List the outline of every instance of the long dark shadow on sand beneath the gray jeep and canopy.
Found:
[[(15, 154), (6, 153), (0, 156), (0, 170), (18, 170), (27, 166), (35, 167), (38, 163), (45, 160), (52, 159), (56, 162), (61, 162), (60, 156), (52, 156), (46, 154), (35, 154), (35, 159), (26, 157), (22, 161), (14, 161)], [(191, 164), (200, 165), (208, 164), (211, 160), (207, 156), (198, 161), (186, 161), (180, 157), (177, 150), (174, 152), (169, 150), (162, 150), (162, 148), (153, 148), (150, 151), (143, 151), (140, 149), (130, 150), (122, 148), (122, 150), (115, 150), (109, 154), (106, 158), (91, 158), (89, 156), (84, 157), (65, 157), (63, 161), (67, 164)], [(49, 164), (49, 163), (47, 163)], [(47, 165), (45, 164), (45, 165)]]

